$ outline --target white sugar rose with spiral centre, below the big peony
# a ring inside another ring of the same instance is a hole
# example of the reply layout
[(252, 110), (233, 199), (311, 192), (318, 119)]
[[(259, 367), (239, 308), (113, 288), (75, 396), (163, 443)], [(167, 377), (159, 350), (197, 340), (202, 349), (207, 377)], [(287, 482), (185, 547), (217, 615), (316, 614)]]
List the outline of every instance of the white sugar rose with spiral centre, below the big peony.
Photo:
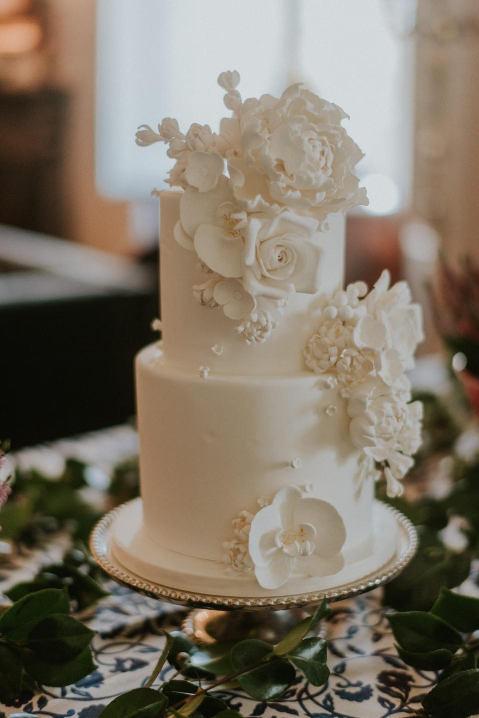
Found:
[(253, 297), (287, 299), (320, 286), (321, 236), (310, 217), (252, 215), (244, 230), (243, 284)]

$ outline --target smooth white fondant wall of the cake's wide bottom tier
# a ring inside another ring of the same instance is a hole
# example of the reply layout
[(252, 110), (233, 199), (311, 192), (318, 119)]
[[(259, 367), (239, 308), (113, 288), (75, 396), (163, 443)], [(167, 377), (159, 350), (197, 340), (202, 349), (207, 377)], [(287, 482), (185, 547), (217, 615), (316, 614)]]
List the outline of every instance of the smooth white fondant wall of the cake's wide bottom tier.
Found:
[(144, 533), (158, 547), (222, 561), (240, 512), (295, 488), (338, 513), (344, 556), (371, 555), (374, 482), (338, 387), (307, 371), (201, 378), (158, 345), (139, 353), (136, 386)]

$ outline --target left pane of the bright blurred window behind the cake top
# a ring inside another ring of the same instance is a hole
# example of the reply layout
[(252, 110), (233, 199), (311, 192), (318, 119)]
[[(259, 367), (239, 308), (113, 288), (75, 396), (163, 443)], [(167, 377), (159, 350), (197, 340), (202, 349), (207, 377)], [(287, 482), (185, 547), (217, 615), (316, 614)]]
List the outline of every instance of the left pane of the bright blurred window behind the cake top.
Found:
[(161, 144), (140, 148), (135, 132), (173, 116), (217, 129), (223, 70), (239, 70), (243, 98), (287, 83), (291, 0), (98, 0), (98, 189), (146, 197), (171, 168)]

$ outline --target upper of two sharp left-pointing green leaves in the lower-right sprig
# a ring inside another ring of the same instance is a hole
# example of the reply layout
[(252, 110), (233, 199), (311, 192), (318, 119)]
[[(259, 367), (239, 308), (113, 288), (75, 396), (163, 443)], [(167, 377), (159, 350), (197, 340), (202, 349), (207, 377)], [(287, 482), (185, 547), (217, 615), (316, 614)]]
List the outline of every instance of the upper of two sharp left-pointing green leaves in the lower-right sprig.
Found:
[(455, 628), (447, 625), (442, 618), (421, 611), (391, 613), (386, 615), (397, 643), (404, 651), (430, 653), (447, 648), (455, 653), (463, 638)]

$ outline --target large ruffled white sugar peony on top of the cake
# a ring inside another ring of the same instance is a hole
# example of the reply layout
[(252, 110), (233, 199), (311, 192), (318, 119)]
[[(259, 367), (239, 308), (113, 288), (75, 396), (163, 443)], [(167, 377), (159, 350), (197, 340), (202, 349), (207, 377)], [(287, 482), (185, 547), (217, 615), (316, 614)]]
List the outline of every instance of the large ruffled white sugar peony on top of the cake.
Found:
[(241, 152), (229, 157), (234, 195), (249, 211), (284, 205), (319, 221), (367, 204), (354, 167), (363, 154), (341, 126), (348, 116), (303, 85), (238, 111)]

